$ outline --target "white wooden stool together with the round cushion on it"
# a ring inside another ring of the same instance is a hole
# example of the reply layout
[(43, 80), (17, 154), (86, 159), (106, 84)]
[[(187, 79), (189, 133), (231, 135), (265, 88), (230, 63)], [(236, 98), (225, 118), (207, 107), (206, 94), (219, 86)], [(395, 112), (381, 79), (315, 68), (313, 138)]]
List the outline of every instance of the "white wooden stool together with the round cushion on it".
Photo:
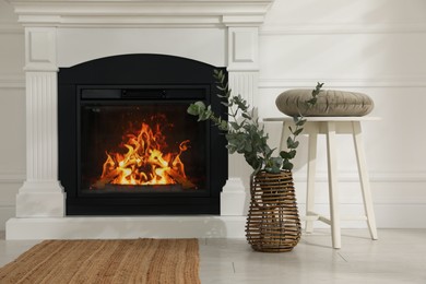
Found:
[[(341, 248), (341, 227), (338, 189), (338, 152), (336, 134), (351, 134), (354, 140), (356, 162), (359, 173), (359, 184), (363, 193), (365, 214), (351, 220), (367, 221), (370, 236), (377, 239), (376, 218), (372, 208), (369, 177), (365, 158), (362, 121), (378, 120), (378, 118), (364, 117), (372, 108), (372, 99), (362, 93), (324, 90), (317, 96), (317, 103), (309, 106), (306, 102), (312, 98), (311, 90), (288, 90), (280, 94), (275, 100), (276, 107), (287, 116), (305, 116), (304, 134), (309, 137), (308, 143), (308, 177), (306, 196), (306, 233), (313, 229), (312, 222), (321, 221), (331, 226), (333, 248)], [(291, 117), (265, 118), (264, 121), (282, 122), (280, 150), (286, 150), (286, 140), (291, 135), (289, 128), (294, 128)], [(315, 176), (317, 159), (317, 137), (327, 137), (328, 181), (330, 216), (324, 216), (315, 211)]]

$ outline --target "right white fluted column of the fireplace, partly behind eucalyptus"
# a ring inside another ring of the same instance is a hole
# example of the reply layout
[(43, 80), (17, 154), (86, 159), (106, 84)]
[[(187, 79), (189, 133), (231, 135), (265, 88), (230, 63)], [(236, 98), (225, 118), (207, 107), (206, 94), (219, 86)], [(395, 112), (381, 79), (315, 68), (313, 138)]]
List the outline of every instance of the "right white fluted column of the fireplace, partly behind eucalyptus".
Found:
[[(250, 106), (257, 106), (259, 81), (259, 25), (263, 17), (224, 16), (228, 27), (227, 70), (228, 84), (234, 95), (241, 95)], [(229, 158), (229, 179), (221, 194), (221, 215), (246, 216), (248, 189), (240, 178), (251, 168), (241, 155)]]

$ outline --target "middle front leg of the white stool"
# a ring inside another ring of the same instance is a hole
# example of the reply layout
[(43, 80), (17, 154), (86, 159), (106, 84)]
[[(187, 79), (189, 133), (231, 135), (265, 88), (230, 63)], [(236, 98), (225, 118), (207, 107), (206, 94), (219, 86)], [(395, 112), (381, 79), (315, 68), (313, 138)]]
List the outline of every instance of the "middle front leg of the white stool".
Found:
[(338, 189), (336, 139), (335, 122), (327, 125), (327, 155), (329, 171), (330, 225), (333, 248), (341, 248), (340, 209)]

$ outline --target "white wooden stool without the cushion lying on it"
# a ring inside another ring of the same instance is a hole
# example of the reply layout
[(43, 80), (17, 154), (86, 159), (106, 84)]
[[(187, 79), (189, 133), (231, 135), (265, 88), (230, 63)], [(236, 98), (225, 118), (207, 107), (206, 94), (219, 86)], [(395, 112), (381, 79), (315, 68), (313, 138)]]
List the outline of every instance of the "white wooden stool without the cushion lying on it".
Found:
[[(376, 218), (372, 209), (372, 199), (370, 192), (369, 178), (367, 173), (366, 158), (364, 153), (363, 133), (360, 121), (379, 120), (377, 117), (306, 117), (304, 134), (309, 137), (308, 146), (308, 178), (306, 196), (306, 232), (311, 233), (313, 221), (321, 221), (331, 226), (331, 238), (333, 248), (341, 248), (341, 227), (339, 210), (339, 189), (338, 189), (338, 165), (336, 165), (336, 134), (352, 134), (354, 139), (356, 162), (363, 192), (365, 215), (351, 218), (367, 221), (371, 239), (377, 239)], [(291, 135), (289, 126), (294, 127), (293, 118), (265, 118), (263, 121), (280, 121), (283, 123), (280, 141), (280, 151), (285, 150), (286, 140)], [(327, 137), (327, 157), (328, 157), (328, 181), (329, 181), (329, 202), (330, 217), (320, 215), (313, 211), (315, 208), (315, 174), (317, 159), (317, 137), (326, 134)]]

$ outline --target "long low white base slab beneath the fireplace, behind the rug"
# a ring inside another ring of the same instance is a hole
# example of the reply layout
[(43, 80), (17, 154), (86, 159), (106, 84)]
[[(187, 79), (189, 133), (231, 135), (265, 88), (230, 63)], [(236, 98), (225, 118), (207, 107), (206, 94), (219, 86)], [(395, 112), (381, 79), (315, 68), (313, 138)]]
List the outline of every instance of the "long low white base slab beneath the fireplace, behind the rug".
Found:
[(245, 238), (245, 216), (10, 218), (5, 238)]

